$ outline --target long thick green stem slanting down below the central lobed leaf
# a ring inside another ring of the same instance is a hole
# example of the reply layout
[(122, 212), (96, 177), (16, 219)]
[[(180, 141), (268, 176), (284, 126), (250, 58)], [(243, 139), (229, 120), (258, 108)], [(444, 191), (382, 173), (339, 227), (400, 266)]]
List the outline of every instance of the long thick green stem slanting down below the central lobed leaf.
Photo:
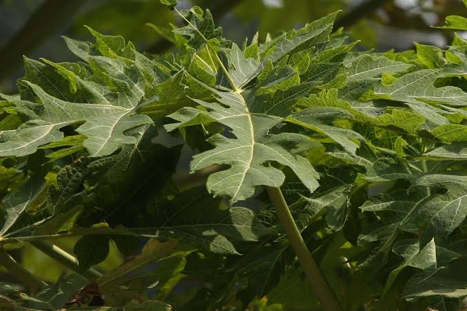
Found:
[(302, 235), (290, 213), (289, 206), (287, 206), (287, 202), (285, 202), (284, 195), (282, 195), (282, 191), (280, 191), (279, 188), (268, 187), (267, 193), (269, 195), (269, 200), (271, 200), (274, 208), (276, 208), (280, 224), (289, 238), (295, 255), (297, 255), (298, 261), (300, 261), (300, 265), (308, 277), (311, 288), (321, 302), (322, 310), (342, 311), (338, 299), (324, 280), (320, 268), (318, 268), (315, 259), (311, 256), (307, 244), (303, 241)]

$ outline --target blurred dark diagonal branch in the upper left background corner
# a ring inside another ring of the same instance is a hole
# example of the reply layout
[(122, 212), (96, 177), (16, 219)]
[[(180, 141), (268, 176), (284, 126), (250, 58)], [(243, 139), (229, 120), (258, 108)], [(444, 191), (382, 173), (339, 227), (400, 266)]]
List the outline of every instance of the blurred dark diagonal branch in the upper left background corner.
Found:
[(85, 0), (47, 0), (0, 50), (0, 79), (15, 72), (23, 61), (52, 34), (69, 23)]

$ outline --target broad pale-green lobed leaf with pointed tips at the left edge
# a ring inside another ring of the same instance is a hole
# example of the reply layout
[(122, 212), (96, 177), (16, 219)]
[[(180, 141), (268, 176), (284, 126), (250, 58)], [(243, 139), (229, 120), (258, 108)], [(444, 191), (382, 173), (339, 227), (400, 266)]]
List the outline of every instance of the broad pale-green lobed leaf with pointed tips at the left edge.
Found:
[[(59, 131), (66, 125), (86, 120), (77, 131), (87, 136), (84, 146), (91, 156), (105, 156), (114, 152), (121, 144), (132, 144), (134, 138), (125, 136), (125, 130), (152, 122), (146, 116), (132, 116), (134, 107), (112, 105), (86, 105), (65, 102), (43, 92), (37, 85), (28, 83), (41, 99), (43, 107), (34, 103), (17, 103), (19, 109), (32, 116), (30, 127), (3, 131), (0, 138), (0, 156), (25, 156), (34, 153), (37, 147), (61, 140)], [(136, 99), (136, 98), (135, 98)], [(105, 100), (104, 103), (108, 103)], [(37, 109), (38, 114), (33, 111)], [(48, 110), (55, 111), (49, 114)]]

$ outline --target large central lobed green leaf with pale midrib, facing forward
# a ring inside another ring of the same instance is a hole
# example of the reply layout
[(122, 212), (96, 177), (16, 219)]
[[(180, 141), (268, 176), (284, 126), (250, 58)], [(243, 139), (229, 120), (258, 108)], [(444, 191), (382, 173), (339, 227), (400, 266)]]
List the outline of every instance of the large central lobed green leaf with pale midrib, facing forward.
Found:
[(291, 147), (307, 141), (307, 137), (295, 133), (267, 133), (282, 120), (280, 116), (267, 114), (268, 110), (280, 105), (283, 107), (280, 111), (284, 111), (293, 105), (294, 100), (300, 98), (301, 90), (291, 92), (270, 107), (256, 107), (255, 97), (251, 92), (220, 92), (216, 89), (211, 89), (211, 92), (216, 95), (217, 102), (194, 99), (210, 111), (181, 109), (169, 116), (179, 123), (165, 126), (168, 131), (172, 131), (217, 121), (229, 127), (236, 136), (212, 136), (207, 141), (216, 147), (194, 156), (191, 162), (191, 171), (198, 171), (211, 164), (230, 166), (225, 171), (209, 176), (207, 189), (210, 193), (229, 197), (233, 204), (251, 197), (257, 186), (280, 186), (284, 181), (284, 174), (274, 167), (264, 166), (270, 161), (290, 167), (310, 191), (317, 188), (318, 175), (311, 164), (302, 156), (289, 151)]

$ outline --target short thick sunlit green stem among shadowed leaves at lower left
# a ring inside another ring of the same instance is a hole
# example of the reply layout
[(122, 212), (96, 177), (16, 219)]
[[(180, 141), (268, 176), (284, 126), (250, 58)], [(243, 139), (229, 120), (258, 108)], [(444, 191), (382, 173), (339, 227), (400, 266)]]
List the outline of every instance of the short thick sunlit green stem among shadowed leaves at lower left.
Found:
[(65, 250), (59, 248), (59, 246), (43, 241), (30, 242), (30, 244), (38, 250), (41, 250), (41, 252), (45, 255), (48, 255), (50, 258), (59, 262), (59, 264), (62, 264), (63, 266), (69, 268), (70, 270), (80, 275), (83, 275), (83, 277), (89, 279), (90, 281), (93, 281), (94, 279), (97, 279), (102, 275), (101, 272), (98, 272), (93, 268), (82, 271), (79, 268), (78, 259), (65, 252)]

